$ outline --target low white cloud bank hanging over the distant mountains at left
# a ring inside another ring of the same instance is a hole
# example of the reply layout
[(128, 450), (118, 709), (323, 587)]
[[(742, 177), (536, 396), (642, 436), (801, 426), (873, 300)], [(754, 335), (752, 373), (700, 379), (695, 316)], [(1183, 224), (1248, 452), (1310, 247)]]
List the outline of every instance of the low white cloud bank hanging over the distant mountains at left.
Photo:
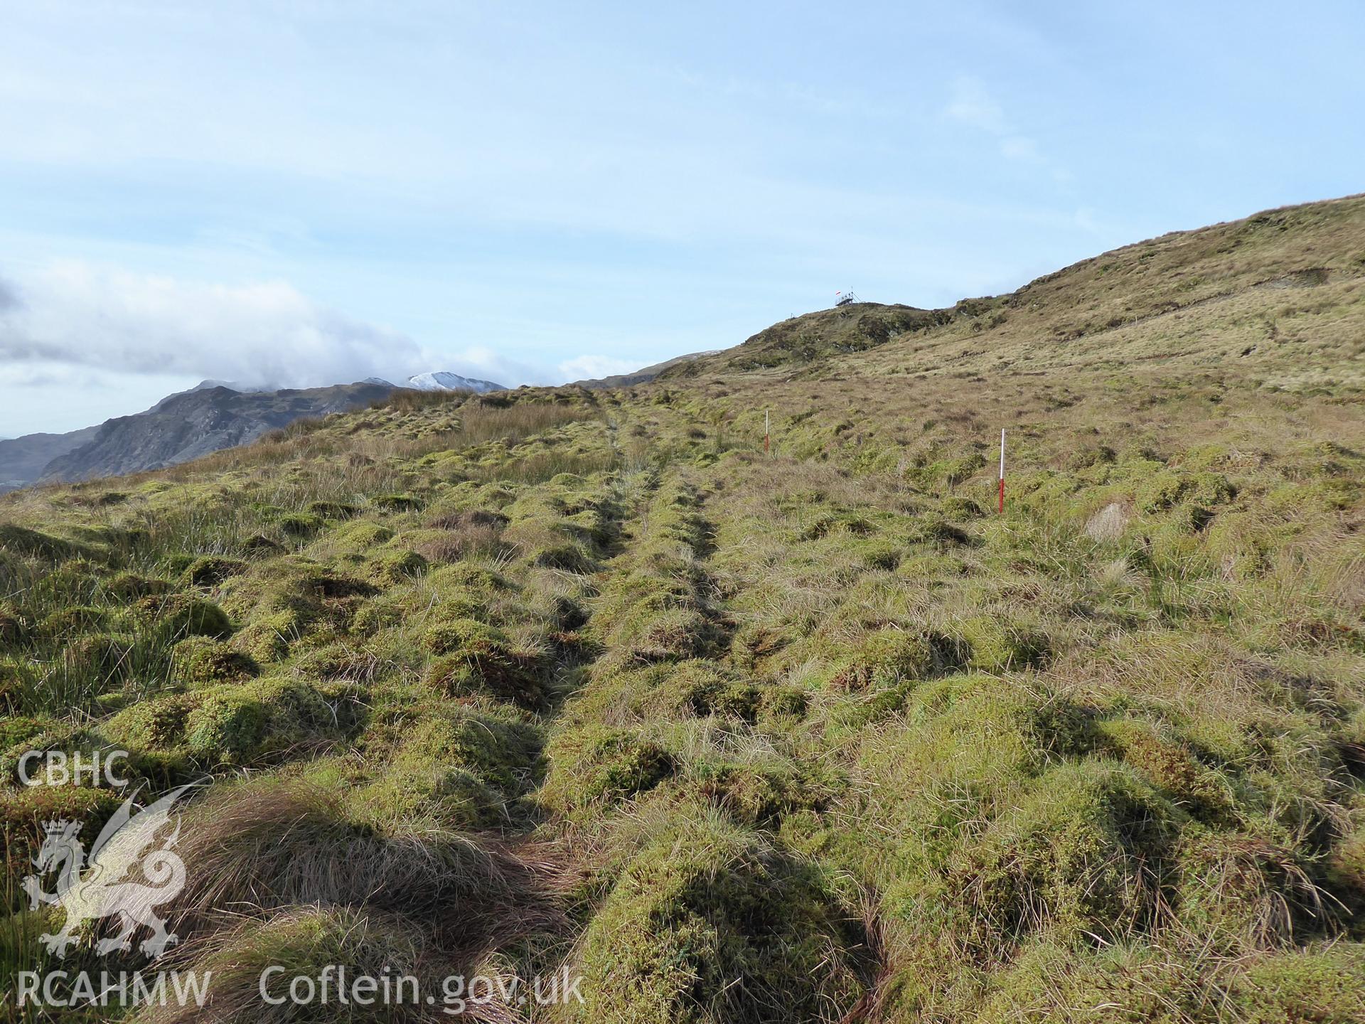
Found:
[(281, 280), (213, 284), (85, 261), (0, 277), (0, 436), (139, 412), (203, 378), (308, 388), (450, 370), (515, 388), (639, 366), (590, 354), (551, 369), (486, 345), (437, 351)]

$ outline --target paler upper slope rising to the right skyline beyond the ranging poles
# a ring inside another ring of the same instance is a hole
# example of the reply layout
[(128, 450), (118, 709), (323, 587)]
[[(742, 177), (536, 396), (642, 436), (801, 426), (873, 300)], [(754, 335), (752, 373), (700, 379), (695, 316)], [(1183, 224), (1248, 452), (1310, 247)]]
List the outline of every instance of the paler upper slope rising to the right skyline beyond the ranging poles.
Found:
[[(1104, 253), (947, 310), (794, 317), (676, 367), (827, 375), (1216, 366), (1290, 388), (1365, 385), (1365, 197), (1267, 210)], [(839, 358), (842, 356), (842, 358)]]

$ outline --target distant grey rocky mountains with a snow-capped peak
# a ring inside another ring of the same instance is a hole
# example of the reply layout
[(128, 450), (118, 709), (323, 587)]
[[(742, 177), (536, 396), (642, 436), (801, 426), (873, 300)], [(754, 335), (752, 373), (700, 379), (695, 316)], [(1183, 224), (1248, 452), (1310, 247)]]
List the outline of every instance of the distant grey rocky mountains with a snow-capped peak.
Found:
[[(66, 434), (26, 434), (0, 441), (0, 492), (175, 466), (221, 448), (250, 444), (296, 419), (367, 406), (399, 386), (379, 378), (298, 389), (201, 381), (131, 416), (115, 416)], [(416, 374), (401, 386), (505, 390), (501, 384), (448, 370)]]

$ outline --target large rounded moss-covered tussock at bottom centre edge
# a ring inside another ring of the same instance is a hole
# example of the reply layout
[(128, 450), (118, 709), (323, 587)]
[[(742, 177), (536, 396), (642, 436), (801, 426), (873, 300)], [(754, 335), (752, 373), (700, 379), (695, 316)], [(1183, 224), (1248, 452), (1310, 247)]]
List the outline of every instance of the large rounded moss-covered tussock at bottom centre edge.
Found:
[(859, 928), (818, 868), (713, 816), (625, 866), (583, 938), (575, 1020), (820, 1020), (852, 1005)]

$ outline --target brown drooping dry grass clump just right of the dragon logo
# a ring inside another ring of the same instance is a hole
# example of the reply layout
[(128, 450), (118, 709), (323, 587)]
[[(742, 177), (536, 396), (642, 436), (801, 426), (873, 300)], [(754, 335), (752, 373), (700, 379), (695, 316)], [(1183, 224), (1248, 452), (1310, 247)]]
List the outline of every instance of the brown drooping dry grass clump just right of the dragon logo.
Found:
[(265, 780), (212, 795), (186, 818), (175, 904), (192, 934), (281, 907), (374, 911), (472, 964), (562, 923), (551, 848), (358, 823), (340, 792)]

